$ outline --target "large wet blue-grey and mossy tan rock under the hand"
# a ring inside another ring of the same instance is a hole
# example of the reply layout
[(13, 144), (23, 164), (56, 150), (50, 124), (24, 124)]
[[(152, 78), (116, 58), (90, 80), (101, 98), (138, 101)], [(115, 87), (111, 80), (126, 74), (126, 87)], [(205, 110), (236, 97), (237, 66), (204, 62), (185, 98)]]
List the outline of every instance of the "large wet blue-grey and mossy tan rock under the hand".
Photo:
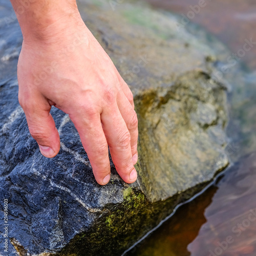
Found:
[[(228, 165), (226, 92), (211, 77), (215, 50), (204, 32), (197, 38), (177, 31), (173, 15), (118, 2), (79, 2), (131, 87), (139, 118), (138, 181), (125, 184), (111, 163), (111, 181), (100, 186), (65, 113), (52, 109), (61, 139), (55, 158), (41, 156), (31, 138), (17, 99), (22, 35), (0, 0), (0, 218), (8, 199), (8, 255), (120, 255)], [(3, 225), (0, 232), (2, 250)]]

